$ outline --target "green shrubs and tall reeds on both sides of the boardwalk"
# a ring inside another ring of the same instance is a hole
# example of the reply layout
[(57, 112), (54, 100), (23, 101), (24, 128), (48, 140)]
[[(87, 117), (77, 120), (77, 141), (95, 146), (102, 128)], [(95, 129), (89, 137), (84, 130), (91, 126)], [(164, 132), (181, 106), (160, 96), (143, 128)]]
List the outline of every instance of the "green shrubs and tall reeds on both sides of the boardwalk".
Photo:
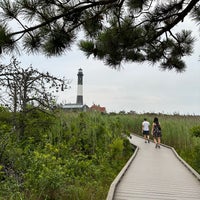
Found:
[[(126, 135), (141, 135), (155, 114), (35, 110), (23, 137), (0, 109), (0, 200), (102, 200), (133, 153)], [(158, 115), (162, 142), (200, 172), (199, 116)], [(20, 118), (20, 117), (19, 117)], [(15, 122), (16, 123), (16, 122)]]

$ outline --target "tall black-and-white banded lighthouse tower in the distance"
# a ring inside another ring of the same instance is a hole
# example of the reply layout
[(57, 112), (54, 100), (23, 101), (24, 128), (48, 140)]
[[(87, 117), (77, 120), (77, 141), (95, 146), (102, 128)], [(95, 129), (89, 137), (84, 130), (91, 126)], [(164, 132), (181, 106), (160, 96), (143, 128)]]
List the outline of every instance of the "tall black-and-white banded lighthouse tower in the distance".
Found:
[(78, 87), (77, 87), (77, 99), (76, 104), (83, 105), (83, 70), (78, 70)]

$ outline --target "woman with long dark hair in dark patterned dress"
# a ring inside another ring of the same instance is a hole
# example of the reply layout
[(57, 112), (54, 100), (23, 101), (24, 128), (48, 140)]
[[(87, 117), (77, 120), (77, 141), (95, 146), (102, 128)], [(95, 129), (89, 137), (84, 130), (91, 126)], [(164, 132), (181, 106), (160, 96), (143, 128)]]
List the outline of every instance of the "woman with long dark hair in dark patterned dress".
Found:
[(157, 117), (155, 117), (153, 120), (151, 134), (153, 135), (153, 140), (154, 143), (156, 144), (155, 148), (160, 148), (162, 133), (161, 133), (161, 126)]

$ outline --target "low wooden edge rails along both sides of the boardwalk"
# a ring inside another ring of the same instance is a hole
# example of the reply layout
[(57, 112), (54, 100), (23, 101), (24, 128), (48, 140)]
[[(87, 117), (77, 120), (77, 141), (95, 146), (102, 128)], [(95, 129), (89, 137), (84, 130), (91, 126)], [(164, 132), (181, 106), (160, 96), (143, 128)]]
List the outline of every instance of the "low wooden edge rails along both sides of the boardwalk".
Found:
[[(132, 135), (132, 137), (135, 137), (135, 139), (137, 139), (139, 136), (136, 136), (136, 135)], [(106, 200), (113, 200), (114, 199), (114, 196), (115, 196), (115, 193), (116, 193), (116, 190), (117, 190), (117, 187), (118, 185), (120, 185), (121, 183), (120, 182), (123, 182), (123, 177), (125, 176), (125, 174), (127, 173), (127, 171), (129, 170), (130, 166), (131, 165), (134, 165), (135, 163), (133, 163), (133, 160), (136, 158), (138, 152), (140, 151), (139, 149), (139, 146), (137, 145), (137, 143), (135, 144), (134, 141), (132, 141), (130, 138), (129, 138), (130, 142), (136, 146), (136, 149), (135, 149), (135, 152), (134, 154), (131, 156), (131, 158), (128, 160), (128, 162), (126, 163), (126, 165), (123, 167), (123, 169), (120, 171), (120, 173), (117, 175), (117, 177), (114, 179), (114, 181), (112, 182), (111, 186), (110, 186), (110, 189), (109, 189), (109, 192), (108, 192), (108, 195), (107, 195), (107, 199)], [(142, 141), (142, 143), (141, 143)], [(143, 144), (143, 138), (140, 139), (140, 143), (142, 145)], [(142, 148), (147, 148), (148, 146), (142, 146), (141, 145), (141, 149)], [(173, 147), (170, 147), (170, 146), (167, 146), (167, 145), (164, 145), (162, 144), (162, 147), (163, 148), (167, 148), (167, 149), (171, 149), (172, 152), (174, 153), (175, 157), (191, 172), (191, 174), (194, 175), (194, 177), (196, 177), (196, 179), (200, 182), (200, 175), (189, 165), (187, 164), (178, 154), (177, 152), (175, 151), (175, 149)], [(155, 149), (154, 149), (155, 150)], [(148, 149), (149, 151), (149, 149)], [(161, 153), (161, 152), (159, 152)], [(139, 155), (138, 155), (139, 156)], [(148, 163), (146, 163), (146, 166), (148, 166)], [(183, 167), (184, 168), (184, 167)], [(131, 169), (132, 170), (132, 169)], [(187, 170), (186, 170), (187, 172)], [(134, 172), (133, 172), (134, 173)], [(137, 173), (137, 172), (136, 172)], [(152, 175), (153, 176), (153, 175)], [(200, 184), (199, 184), (200, 186)], [(131, 187), (131, 186), (130, 186)], [(198, 186), (197, 186), (198, 187)], [(134, 188), (133, 188), (134, 190)], [(200, 191), (200, 187), (199, 187), (199, 191)], [(198, 194), (196, 195), (197, 197), (199, 197), (198, 199), (200, 199), (200, 193), (198, 191)], [(194, 199), (196, 199), (196, 196)], [(124, 199), (124, 198), (123, 198)]]

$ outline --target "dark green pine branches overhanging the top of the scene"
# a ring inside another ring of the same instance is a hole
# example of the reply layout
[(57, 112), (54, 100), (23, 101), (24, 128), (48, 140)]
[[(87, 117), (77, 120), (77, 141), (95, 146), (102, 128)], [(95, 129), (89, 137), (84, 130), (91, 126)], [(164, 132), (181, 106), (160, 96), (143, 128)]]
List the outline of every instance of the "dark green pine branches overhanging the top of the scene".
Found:
[(20, 52), (22, 42), (28, 53), (59, 56), (83, 30), (80, 49), (111, 67), (148, 61), (183, 71), (194, 38), (173, 28), (186, 16), (198, 23), (199, 13), (199, 0), (2, 0), (0, 53)]

